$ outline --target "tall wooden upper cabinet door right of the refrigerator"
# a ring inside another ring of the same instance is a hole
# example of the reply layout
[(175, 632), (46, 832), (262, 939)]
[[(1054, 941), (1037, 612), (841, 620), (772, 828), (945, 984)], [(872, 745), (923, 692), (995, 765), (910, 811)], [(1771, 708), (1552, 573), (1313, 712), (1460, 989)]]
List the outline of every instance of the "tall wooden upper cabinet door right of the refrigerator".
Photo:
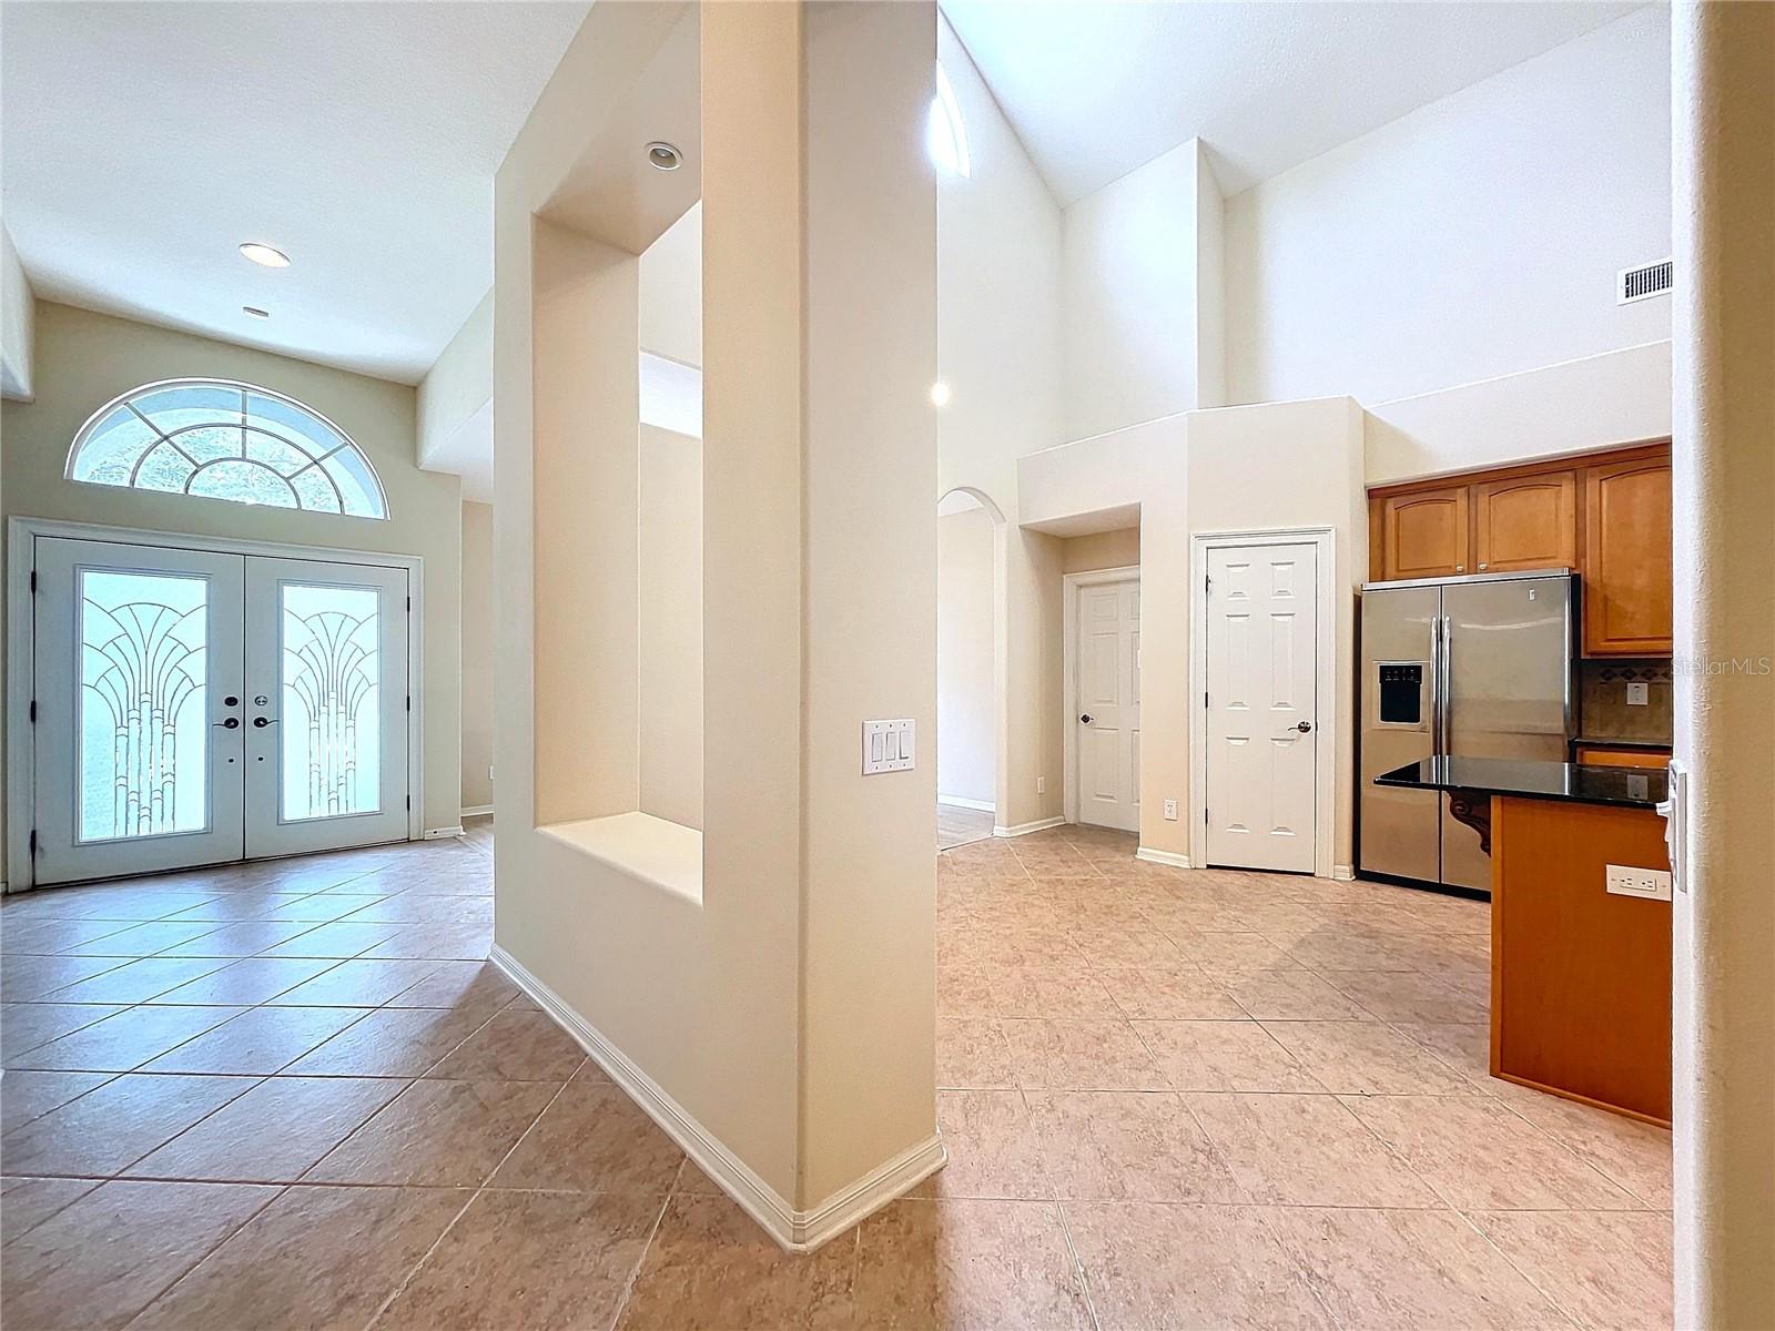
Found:
[(1670, 655), (1670, 458), (1583, 469), (1583, 653)]

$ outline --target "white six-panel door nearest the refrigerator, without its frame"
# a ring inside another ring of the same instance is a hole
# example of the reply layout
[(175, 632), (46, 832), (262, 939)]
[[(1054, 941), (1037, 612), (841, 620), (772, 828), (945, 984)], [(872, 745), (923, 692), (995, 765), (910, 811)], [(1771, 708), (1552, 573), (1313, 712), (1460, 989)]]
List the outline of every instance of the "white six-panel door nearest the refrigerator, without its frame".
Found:
[(1314, 871), (1314, 545), (1209, 550), (1209, 864)]

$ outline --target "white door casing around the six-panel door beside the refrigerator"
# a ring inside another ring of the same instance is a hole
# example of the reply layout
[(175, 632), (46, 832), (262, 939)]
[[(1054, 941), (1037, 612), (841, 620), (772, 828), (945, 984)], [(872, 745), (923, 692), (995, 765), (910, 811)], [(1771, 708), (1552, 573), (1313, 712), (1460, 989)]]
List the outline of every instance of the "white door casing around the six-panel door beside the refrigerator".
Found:
[(1209, 550), (1246, 545), (1312, 545), (1317, 580), (1314, 651), (1314, 877), (1333, 877), (1337, 839), (1337, 531), (1333, 527), (1264, 527), (1189, 534), (1189, 859), (1209, 862)]

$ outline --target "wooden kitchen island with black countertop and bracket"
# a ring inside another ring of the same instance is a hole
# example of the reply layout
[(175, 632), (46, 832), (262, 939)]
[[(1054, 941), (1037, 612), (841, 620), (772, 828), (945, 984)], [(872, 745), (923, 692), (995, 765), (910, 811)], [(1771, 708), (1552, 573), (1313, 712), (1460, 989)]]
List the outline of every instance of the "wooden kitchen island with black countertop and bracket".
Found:
[(1441, 790), (1491, 855), (1491, 1075), (1670, 1123), (1670, 898), (1608, 891), (1668, 873), (1667, 774), (1427, 758), (1376, 784)]

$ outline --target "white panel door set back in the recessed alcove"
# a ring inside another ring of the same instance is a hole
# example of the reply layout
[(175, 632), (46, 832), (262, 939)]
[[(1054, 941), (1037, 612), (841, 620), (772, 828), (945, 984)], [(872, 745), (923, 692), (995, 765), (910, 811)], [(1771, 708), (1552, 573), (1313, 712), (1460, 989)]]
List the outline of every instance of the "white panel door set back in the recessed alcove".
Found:
[(1079, 587), (1079, 822), (1140, 831), (1140, 579)]

